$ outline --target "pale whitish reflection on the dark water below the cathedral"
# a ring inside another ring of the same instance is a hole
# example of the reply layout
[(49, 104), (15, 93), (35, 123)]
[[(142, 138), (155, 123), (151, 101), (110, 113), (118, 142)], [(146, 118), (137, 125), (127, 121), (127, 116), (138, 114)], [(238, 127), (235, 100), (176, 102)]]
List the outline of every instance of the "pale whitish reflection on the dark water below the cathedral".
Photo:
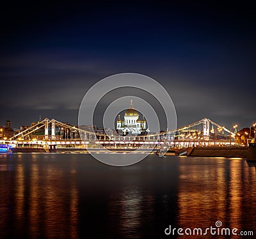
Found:
[[(126, 185), (108, 198), (109, 238), (141, 238), (152, 229), (156, 198), (141, 192), (135, 185)], [(146, 230), (145, 230), (146, 229)]]

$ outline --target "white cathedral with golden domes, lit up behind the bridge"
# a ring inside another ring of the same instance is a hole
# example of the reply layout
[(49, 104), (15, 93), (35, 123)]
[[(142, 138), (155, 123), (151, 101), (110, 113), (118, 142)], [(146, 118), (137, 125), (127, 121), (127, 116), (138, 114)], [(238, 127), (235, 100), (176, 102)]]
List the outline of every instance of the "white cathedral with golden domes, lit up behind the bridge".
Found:
[(144, 116), (140, 120), (138, 111), (132, 106), (132, 100), (130, 108), (125, 111), (124, 119), (120, 119), (120, 114), (118, 115), (116, 130), (118, 130), (120, 135), (143, 135), (148, 133), (147, 122)]

